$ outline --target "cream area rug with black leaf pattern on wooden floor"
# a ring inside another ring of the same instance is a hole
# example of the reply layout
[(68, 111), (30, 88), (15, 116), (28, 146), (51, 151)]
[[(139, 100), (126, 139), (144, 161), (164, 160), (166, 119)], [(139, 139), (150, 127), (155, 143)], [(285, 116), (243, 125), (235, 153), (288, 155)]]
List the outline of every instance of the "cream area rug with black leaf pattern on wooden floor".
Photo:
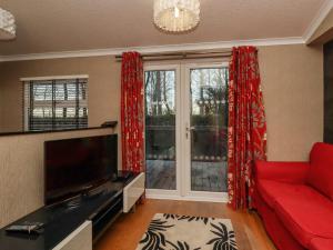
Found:
[(231, 220), (157, 213), (137, 250), (236, 250)]

